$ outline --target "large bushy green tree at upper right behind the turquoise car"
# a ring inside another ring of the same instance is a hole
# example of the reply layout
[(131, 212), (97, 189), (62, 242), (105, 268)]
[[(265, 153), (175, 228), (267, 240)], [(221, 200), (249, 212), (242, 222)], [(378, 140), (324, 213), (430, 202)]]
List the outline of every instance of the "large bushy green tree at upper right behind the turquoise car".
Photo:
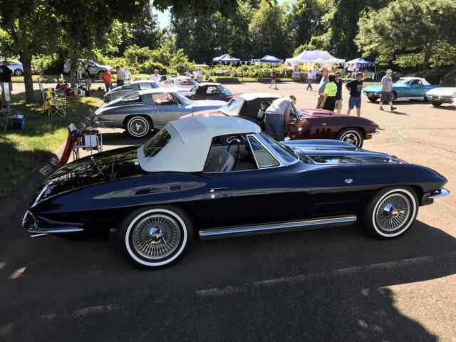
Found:
[(393, 1), (360, 20), (356, 44), (363, 56), (376, 56), (380, 62), (395, 61), (400, 66), (420, 63), (427, 69), (434, 53), (456, 44), (456, 3)]

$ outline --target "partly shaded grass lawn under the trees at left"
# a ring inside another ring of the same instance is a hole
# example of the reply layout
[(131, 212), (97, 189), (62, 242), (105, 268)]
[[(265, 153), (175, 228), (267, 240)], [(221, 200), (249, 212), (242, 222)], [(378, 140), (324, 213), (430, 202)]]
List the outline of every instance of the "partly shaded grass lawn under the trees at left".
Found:
[[(26, 115), (24, 130), (0, 133), (0, 197), (8, 196), (14, 188), (27, 181), (33, 170), (47, 162), (68, 137), (68, 125), (78, 126), (90, 113), (91, 106), (101, 103), (102, 92), (93, 97), (68, 97), (66, 118), (48, 118), (40, 104), (26, 104), (25, 94), (12, 95), (12, 113)], [(41, 95), (36, 91), (35, 98)]]

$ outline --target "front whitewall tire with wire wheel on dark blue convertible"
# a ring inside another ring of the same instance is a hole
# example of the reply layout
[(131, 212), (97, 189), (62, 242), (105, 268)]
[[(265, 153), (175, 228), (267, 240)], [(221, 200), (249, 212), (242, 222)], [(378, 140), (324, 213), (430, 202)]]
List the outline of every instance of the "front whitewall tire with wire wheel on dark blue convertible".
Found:
[(373, 237), (398, 237), (415, 222), (418, 205), (418, 198), (410, 187), (390, 187), (373, 197), (361, 222)]

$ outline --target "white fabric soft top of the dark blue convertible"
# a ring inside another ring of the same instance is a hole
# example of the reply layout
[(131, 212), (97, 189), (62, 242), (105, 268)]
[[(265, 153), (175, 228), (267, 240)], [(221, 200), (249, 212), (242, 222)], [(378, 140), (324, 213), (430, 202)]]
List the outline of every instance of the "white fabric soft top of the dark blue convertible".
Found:
[(252, 121), (224, 116), (192, 116), (171, 121), (163, 129), (167, 130), (171, 138), (160, 152), (152, 157), (145, 157), (144, 147), (138, 148), (138, 160), (142, 170), (201, 172), (212, 138), (261, 132), (259, 125)]

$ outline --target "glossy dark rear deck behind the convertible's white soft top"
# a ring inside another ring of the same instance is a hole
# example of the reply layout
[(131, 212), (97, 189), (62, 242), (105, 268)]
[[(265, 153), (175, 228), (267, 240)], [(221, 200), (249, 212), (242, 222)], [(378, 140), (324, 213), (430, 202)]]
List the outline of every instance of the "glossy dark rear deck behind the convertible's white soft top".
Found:
[(70, 162), (43, 182), (34, 202), (90, 185), (143, 175), (137, 150), (138, 146), (123, 147)]

